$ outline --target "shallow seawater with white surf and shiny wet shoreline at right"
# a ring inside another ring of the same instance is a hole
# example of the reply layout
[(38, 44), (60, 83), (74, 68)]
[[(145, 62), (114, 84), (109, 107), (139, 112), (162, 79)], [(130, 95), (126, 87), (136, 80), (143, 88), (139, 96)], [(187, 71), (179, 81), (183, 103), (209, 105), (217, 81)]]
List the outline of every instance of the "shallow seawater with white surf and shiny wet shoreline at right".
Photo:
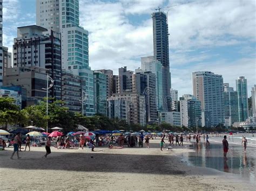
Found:
[(206, 146), (203, 138), (201, 138), (199, 145), (193, 142), (192, 139), (191, 145), (187, 146), (187, 148), (195, 152), (183, 154), (181, 156), (183, 157), (182, 160), (186, 161), (188, 165), (214, 168), (226, 173), (239, 174), (242, 178), (254, 182), (256, 175), (256, 138), (245, 134), (248, 145), (246, 152), (244, 152), (244, 146), (241, 144), (243, 135), (236, 134), (233, 137), (230, 136), (229, 139), (227, 138), (229, 144), (227, 161), (223, 157), (223, 136), (210, 136), (210, 146)]

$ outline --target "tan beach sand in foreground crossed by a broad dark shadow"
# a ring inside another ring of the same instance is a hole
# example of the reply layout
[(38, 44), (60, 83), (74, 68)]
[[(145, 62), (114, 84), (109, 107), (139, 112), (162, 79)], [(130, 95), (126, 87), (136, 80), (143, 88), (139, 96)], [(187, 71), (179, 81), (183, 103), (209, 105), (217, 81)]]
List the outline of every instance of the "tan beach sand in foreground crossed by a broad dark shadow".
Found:
[(47, 159), (44, 147), (20, 152), (10, 159), (12, 148), (0, 151), (0, 190), (254, 190), (236, 174), (187, 166), (178, 155), (193, 152), (186, 147), (160, 151), (159, 140), (151, 148), (57, 150)]

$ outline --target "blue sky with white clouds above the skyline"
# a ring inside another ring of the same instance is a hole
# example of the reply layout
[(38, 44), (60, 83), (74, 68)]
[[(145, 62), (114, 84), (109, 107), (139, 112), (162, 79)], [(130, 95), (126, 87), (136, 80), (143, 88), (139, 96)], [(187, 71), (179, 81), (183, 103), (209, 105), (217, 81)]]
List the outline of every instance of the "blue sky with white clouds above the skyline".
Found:
[[(12, 52), (17, 27), (36, 23), (36, 0), (5, 0), (3, 45)], [(168, 11), (172, 88), (192, 94), (192, 72), (221, 74), (235, 89), (245, 76), (248, 96), (256, 84), (254, 0), (80, 0), (80, 25), (89, 31), (91, 69), (140, 67), (153, 55), (151, 13)], [(170, 8), (166, 8), (166, 7)]]

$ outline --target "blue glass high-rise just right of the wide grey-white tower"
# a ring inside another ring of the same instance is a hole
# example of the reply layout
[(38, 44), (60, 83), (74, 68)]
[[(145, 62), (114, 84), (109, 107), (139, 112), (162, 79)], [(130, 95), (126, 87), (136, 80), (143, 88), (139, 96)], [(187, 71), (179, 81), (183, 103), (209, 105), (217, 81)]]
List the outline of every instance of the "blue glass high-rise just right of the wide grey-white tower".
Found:
[(224, 83), (224, 105), (225, 105), (225, 126), (231, 126), (234, 122), (239, 122), (237, 91)]

